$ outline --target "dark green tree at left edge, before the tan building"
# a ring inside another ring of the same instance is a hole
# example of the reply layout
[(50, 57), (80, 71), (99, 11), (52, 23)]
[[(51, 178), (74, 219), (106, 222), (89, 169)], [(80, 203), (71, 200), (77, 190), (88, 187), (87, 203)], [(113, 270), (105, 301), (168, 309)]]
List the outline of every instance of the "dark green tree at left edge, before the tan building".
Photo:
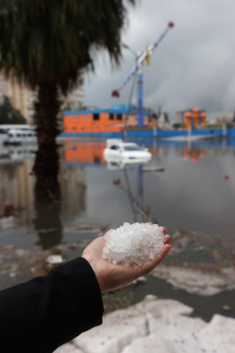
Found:
[(3, 97), (3, 103), (0, 105), (0, 124), (26, 124), (24, 116), (13, 108), (7, 96)]

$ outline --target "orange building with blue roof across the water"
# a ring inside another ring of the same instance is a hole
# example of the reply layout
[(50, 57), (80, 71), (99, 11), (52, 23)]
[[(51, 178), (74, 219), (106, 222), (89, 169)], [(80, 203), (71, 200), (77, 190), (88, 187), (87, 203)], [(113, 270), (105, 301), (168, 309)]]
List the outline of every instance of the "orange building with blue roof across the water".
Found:
[[(131, 109), (130, 109), (131, 108)], [(148, 125), (149, 112), (143, 112)], [(63, 112), (64, 134), (120, 132), (124, 126), (137, 125), (137, 108), (114, 104), (109, 109), (67, 110)]]

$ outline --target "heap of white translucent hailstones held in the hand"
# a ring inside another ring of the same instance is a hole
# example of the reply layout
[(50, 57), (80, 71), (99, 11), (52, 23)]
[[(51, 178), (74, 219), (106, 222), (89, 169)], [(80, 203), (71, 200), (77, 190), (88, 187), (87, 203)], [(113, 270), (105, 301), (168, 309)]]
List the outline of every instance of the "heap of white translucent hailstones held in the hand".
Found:
[(102, 258), (114, 265), (128, 267), (132, 264), (142, 264), (153, 259), (164, 245), (162, 228), (157, 224), (124, 223), (119, 228), (110, 229), (104, 235), (106, 240)]

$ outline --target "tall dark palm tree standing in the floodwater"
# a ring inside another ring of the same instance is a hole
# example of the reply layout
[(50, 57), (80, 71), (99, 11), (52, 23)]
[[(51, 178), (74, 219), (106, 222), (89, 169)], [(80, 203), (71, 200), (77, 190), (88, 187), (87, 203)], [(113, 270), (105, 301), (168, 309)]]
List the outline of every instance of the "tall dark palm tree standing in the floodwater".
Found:
[[(135, 0), (128, 0), (134, 5)], [(58, 198), (59, 93), (94, 70), (98, 52), (121, 56), (124, 0), (0, 0), (0, 70), (37, 90), (36, 191)]]

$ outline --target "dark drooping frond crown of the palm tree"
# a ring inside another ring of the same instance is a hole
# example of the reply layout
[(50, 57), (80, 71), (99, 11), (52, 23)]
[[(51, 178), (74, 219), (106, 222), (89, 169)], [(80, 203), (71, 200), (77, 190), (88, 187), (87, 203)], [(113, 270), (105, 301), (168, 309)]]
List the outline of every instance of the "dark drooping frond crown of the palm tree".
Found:
[(98, 52), (107, 51), (112, 64), (119, 64), (125, 3), (1, 0), (0, 70), (32, 89), (41, 81), (51, 82), (66, 94), (82, 73), (94, 70)]

